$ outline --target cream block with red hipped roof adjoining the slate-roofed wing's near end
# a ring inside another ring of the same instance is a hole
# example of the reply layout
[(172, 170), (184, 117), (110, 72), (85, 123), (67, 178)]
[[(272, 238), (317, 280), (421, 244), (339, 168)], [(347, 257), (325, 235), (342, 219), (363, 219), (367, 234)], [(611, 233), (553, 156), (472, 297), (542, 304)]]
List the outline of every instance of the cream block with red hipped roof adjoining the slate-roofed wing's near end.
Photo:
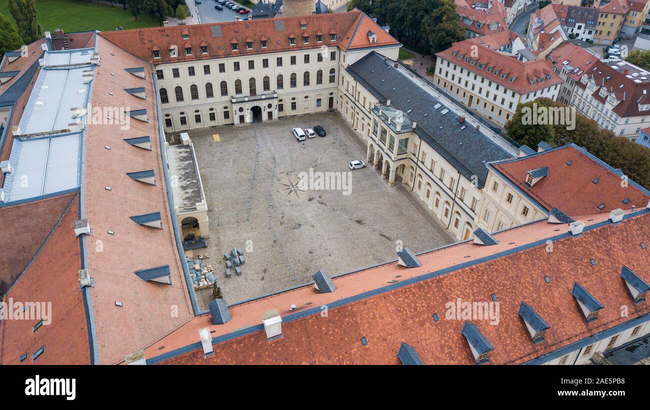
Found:
[[(540, 144), (543, 146), (543, 144)], [(645, 207), (650, 192), (625, 179), (585, 149), (569, 144), (516, 159), (490, 162), (478, 226), (501, 231), (547, 218), (595, 215), (617, 208)]]

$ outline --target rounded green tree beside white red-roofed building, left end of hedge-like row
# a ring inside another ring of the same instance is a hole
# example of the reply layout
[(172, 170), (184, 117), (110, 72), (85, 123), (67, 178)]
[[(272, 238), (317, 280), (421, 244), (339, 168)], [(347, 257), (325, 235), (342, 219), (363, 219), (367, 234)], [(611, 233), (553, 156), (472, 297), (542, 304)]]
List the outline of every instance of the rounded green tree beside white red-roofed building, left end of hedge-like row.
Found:
[(539, 107), (539, 103), (533, 105), (536, 102), (538, 101), (530, 101), (517, 105), (517, 111), (510, 121), (506, 122), (504, 128), (508, 136), (521, 145), (537, 147), (542, 141), (553, 145), (555, 135), (554, 127), (549, 124), (533, 124), (532, 117), (537, 115), (534, 112), (534, 108)]

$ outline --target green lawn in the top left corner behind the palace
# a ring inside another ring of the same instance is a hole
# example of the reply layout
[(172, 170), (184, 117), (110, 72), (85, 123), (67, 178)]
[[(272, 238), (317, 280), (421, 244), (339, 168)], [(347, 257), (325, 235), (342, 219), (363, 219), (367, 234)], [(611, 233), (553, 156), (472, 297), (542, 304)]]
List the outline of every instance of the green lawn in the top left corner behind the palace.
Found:
[[(9, 12), (8, 0), (0, 0), (0, 13), (5, 14), (14, 26), (16, 21)], [(121, 25), (125, 30), (142, 27), (158, 27), (160, 23), (138, 15), (133, 19), (129, 10), (121, 5), (104, 5), (89, 3), (88, 0), (36, 0), (36, 16), (43, 31), (54, 31), (59, 28), (65, 32), (73, 31), (111, 31)]]

